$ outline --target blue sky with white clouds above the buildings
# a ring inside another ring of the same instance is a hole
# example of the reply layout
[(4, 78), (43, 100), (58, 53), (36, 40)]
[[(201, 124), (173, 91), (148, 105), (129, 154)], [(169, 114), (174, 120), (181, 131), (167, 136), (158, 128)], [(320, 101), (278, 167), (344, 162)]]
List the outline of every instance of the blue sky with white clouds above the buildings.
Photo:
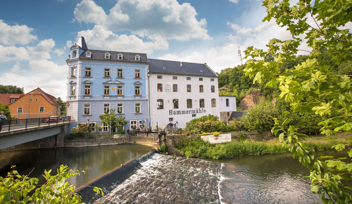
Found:
[(66, 101), (66, 60), (78, 37), (88, 49), (146, 53), (148, 58), (235, 67), (238, 46), (265, 49), (290, 34), (262, 22), (259, 0), (2, 1), (0, 84), (35, 88)]

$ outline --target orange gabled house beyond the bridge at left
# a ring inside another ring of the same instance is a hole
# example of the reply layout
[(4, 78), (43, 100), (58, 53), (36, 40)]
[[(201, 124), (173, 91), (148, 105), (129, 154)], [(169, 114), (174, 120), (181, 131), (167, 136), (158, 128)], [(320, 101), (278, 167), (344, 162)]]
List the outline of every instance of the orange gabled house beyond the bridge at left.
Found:
[(60, 105), (56, 98), (36, 88), (8, 105), (11, 116), (17, 119), (58, 116)]

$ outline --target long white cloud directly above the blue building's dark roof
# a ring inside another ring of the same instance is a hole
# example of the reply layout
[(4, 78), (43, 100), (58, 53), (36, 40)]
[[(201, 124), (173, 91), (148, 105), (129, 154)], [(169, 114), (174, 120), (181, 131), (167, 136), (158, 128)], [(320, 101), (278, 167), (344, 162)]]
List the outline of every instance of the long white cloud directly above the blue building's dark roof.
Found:
[(102, 25), (95, 25), (92, 30), (80, 31), (77, 36), (84, 36), (89, 47), (103, 50), (118, 50), (150, 54), (154, 49), (168, 49), (168, 42), (160, 36), (149, 36), (149, 42), (135, 35), (117, 35)]

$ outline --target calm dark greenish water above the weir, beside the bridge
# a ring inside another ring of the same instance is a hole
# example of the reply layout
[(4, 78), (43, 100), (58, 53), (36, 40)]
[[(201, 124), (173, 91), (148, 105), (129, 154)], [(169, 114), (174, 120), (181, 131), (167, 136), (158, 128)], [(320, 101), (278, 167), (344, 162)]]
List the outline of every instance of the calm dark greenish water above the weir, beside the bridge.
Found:
[(86, 172), (85, 175), (68, 180), (70, 184), (80, 187), (119, 167), (121, 163), (137, 159), (151, 149), (142, 144), (119, 144), (0, 152), (0, 176), (6, 176), (11, 165), (16, 165), (15, 169), (24, 175), (34, 168), (30, 176), (39, 178), (39, 183), (42, 184), (44, 169), (52, 169), (56, 173), (56, 169), (63, 164)]

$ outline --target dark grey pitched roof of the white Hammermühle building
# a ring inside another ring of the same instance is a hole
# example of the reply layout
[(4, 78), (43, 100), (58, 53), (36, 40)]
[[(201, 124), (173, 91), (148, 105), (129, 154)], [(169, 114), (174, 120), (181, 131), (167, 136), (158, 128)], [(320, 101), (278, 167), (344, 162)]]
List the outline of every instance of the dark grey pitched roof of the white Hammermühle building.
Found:
[(212, 69), (210, 69), (210, 67), (208, 67), (206, 63), (201, 64), (193, 62), (180, 62), (157, 59), (148, 59), (148, 61), (150, 73), (217, 77), (216, 73)]

